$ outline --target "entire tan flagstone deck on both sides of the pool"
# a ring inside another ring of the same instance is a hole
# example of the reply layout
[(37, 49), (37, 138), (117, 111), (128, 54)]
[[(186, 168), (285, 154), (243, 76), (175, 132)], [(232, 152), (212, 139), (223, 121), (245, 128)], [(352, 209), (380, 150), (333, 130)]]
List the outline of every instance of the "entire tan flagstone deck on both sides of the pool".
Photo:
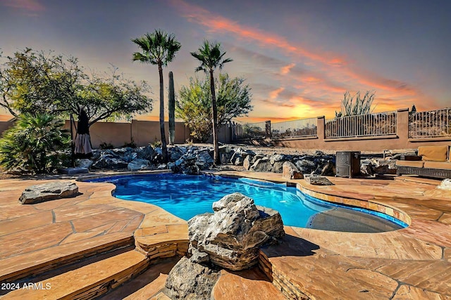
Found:
[[(221, 174), (285, 181), (272, 173)], [(224, 271), (215, 299), (451, 299), (450, 191), (437, 190), (438, 181), (409, 177), (330, 181), (335, 185), (290, 182), (314, 197), (383, 211), (410, 226), (388, 233), (285, 226), (283, 242), (261, 250), (267, 278), (258, 269)], [(19, 204), (20, 193), (33, 184), (0, 181), (0, 282), (25, 278), (20, 287), (28, 280), (51, 288), (0, 291), (4, 299), (89, 298), (137, 275), (128, 283), (141, 280), (129, 299), (167, 299), (161, 288), (171, 263), (161, 259), (186, 252), (185, 221), (151, 204), (118, 200), (109, 183), (77, 182), (78, 197)], [(76, 265), (87, 258), (85, 266)], [(67, 269), (48, 273), (58, 266)], [(142, 277), (143, 271), (152, 274)], [(128, 289), (119, 290), (126, 296)]]

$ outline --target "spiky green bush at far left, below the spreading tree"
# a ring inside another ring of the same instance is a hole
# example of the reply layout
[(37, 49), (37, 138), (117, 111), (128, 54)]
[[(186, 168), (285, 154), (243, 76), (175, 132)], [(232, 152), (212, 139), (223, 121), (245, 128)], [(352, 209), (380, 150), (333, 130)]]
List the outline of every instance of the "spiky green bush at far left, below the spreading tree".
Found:
[(0, 138), (0, 165), (6, 170), (43, 174), (67, 162), (70, 147), (64, 122), (46, 114), (20, 115)]

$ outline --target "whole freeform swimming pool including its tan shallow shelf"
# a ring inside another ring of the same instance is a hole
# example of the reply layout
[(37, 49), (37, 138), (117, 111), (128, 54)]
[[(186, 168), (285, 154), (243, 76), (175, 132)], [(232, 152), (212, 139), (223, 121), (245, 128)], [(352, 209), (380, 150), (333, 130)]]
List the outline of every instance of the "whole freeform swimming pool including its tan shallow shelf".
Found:
[(197, 214), (213, 212), (213, 202), (225, 195), (240, 192), (251, 197), (257, 205), (279, 211), (287, 226), (354, 232), (390, 231), (407, 226), (397, 220), (373, 216), (371, 211), (354, 210), (316, 200), (283, 183), (248, 178), (146, 174), (91, 181), (113, 183), (116, 185), (113, 193), (115, 197), (151, 203), (185, 220)]

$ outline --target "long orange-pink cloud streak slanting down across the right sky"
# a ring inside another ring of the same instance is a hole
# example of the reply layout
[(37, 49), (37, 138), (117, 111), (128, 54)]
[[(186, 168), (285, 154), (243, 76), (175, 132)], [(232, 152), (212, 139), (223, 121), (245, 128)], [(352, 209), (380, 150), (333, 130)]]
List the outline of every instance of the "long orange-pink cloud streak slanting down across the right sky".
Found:
[[(283, 100), (288, 102), (287, 106), (292, 105), (292, 98), (283, 98), (283, 93), (288, 87), (297, 89), (299, 98), (312, 99), (313, 102), (310, 105), (314, 107), (318, 107), (319, 103), (326, 105), (327, 102), (334, 102), (336, 103), (335, 110), (340, 109), (340, 100), (345, 91), (352, 93), (359, 90), (362, 92), (376, 90), (375, 103), (378, 97), (384, 100), (388, 99), (388, 103), (381, 104), (380, 107), (390, 108), (390, 110), (409, 106), (406, 103), (425, 98), (423, 93), (413, 86), (403, 81), (383, 78), (360, 70), (359, 67), (355, 67), (338, 54), (307, 49), (288, 41), (285, 37), (256, 27), (240, 25), (234, 20), (224, 18), (184, 0), (169, 0), (169, 2), (187, 20), (205, 27), (208, 32), (233, 34), (233, 37), (237, 39), (257, 42), (261, 47), (277, 48), (293, 60), (302, 62), (307, 71), (303, 70), (296, 75), (293, 74), (296, 63), (278, 67), (278, 72), (274, 72), (274, 75), (282, 77), (279, 79), (283, 79), (280, 82), (283, 82), (284, 85), (271, 91), (269, 99), (266, 99), (267, 102), (278, 98), (278, 105)], [(315, 72), (310, 72), (311, 70), (315, 70)], [(431, 99), (428, 100), (431, 101)], [(332, 108), (329, 110), (330, 114), (333, 114), (334, 110)]]

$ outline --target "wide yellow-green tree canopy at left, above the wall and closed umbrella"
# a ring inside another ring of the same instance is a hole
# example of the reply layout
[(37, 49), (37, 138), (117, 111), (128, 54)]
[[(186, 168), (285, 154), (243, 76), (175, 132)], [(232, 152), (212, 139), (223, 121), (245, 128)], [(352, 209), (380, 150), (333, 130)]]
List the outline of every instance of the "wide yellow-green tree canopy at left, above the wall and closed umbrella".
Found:
[(116, 74), (86, 74), (72, 56), (35, 52), (31, 48), (6, 57), (0, 68), (0, 105), (18, 112), (50, 115), (87, 112), (89, 126), (102, 119), (125, 118), (152, 110), (149, 86)]

